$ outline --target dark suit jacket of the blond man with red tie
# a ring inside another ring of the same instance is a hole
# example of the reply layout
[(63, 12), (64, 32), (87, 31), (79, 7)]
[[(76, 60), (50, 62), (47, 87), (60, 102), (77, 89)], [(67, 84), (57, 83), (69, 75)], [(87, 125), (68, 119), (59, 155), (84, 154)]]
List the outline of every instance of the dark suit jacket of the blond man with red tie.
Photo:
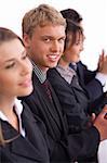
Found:
[[(95, 127), (81, 134), (68, 134), (68, 125), (59, 101), (51, 87), (53, 103), (49, 100), (38, 77), (32, 76), (34, 91), (23, 99), (45, 124), (49, 135), (51, 162), (67, 163), (78, 159), (92, 156), (98, 147), (99, 135)], [(91, 143), (93, 141), (93, 145)]]

